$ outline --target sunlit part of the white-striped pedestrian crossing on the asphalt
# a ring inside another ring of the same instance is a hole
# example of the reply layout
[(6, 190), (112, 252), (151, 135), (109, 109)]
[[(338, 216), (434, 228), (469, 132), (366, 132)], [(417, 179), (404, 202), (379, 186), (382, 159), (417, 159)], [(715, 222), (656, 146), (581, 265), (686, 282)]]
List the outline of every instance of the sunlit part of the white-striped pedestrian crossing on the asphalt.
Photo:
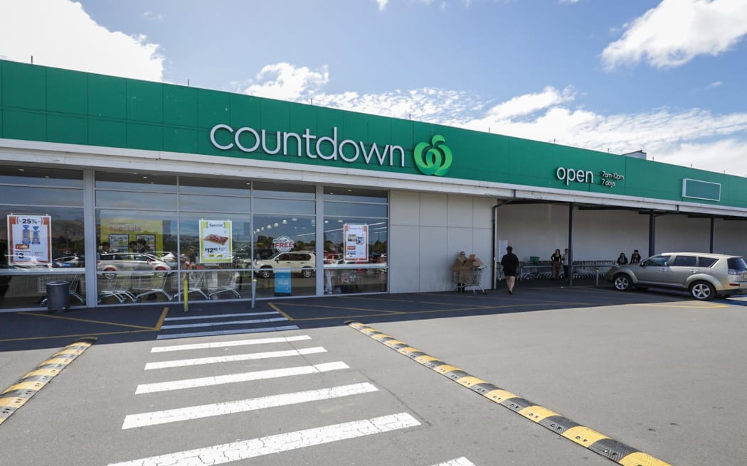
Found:
[[(287, 345), (289, 349), (278, 350), (277, 345)], [(303, 347), (296, 347), (297, 345)], [(241, 351), (244, 348), (256, 348), (257, 350), (222, 356), (210, 354), (214, 351)], [(264, 351), (263, 349), (270, 350)], [(200, 356), (199, 353), (205, 354), (202, 357), (179, 357), (186, 351), (190, 352), (187, 356)], [(148, 403), (140, 406), (152, 407), (153, 410), (125, 414), (121, 424), (121, 430), (124, 432), (142, 429), (170, 429), (169, 432), (175, 432), (173, 429), (178, 429), (179, 426), (188, 425), (190, 422), (201, 422), (203, 423), (200, 424), (202, 429), (205, 429), (205, 426), (214, 425), (214, 429), (211, 430), (219, 432), (216, 438), (220, 438), (220, 432), (223, 432), (226, 425), (230, 425), (226, 424), (226, 417), (228, 416), (241, 416), (241, 413), (245, 413), (244, 415), (246, 413), (257, 413), (257, 415), (252, 414), (252, 416), (258, 416), (264, 412), (265, 415), (272, 417), (275, 409), (283, 409), (284, 407), (286, 409), (299, 409), (301, 406), (313, 406), (314, 403), (339, 403), (346, 399), (355, 403), (355, 406), (368, 406), (371, 401), (370, 398), (356, 400), (360, 397), (371, 397), (373, 394), (382, 393), (374, 383), (356, 380), (347, 380), (344, 383), (327, 384), (330, 386), (317, 386), (309, 389), (309, 385), (329, 382), (328, 377), (320, 377), (320, 374), (336, 373), (338, 376), (334, 380), (339, 382), (346, 378), (355, 379), (356, 373), (346, 371), (350, 367), (345, 362), (335, 361), (335, 358), (331, 357), (324, 347), (314, 346), (314, 339), (306, 335), (273, 335), (267, 338), (247, 337), (246, 339), (231, 341), (159, 345), (152, 347), (149, 354), (152, 355), (152, 359), (159, 360), (146, 362), (144, 366), (146, 372), (143, 372), (143, 377), (148, 380), (138, 384), (134, 394), (138, 397), (148, 394), (146, 395), (149, 397)], [(293, 358), (303, 360), (304, 363), (291, 362), (289, 365), (288, 361)], [(324, 359), (327, 359), (327, 361), (323, 361)], [(316, 362), (316, 364), (312, 362)], [(252, 365), (252, 368), (258, 370), (232, 370), (237, 367), (246, 368), (247, 365)], [(220, 372), (220, 374), (207, 377), (188, 377), (195, 375), (195, 371), (198, 369), (210, 369), (210, 371)], [(305, 376), (311, 377), (311, 379), (298, 378)], [(285, 380), (286, 382), (277, 385), (267, 385), (264, 382), (273, 379)], [(229, 391), (228, 388), (231, 386), (234, 389)], [(279, 386), (285, 388), (277, 390)], [(293, 390), (292, 387), (294, 386), (306, 389)], [(182, 394), (181, 391), (190, 388), (204, 387), (211, 387), (209, 392), (211, 400), (204, 399), (204, 394), (207, 392), (203, 391), (200, 391), (196, 397), (169, 395), (169, 393)], [(276, 392), (261, 392), (263, 390)], [(235, 393), (251, 393), (252, 397), (215, 399), (216, 397), (229, 398)], [(183, 400), (199, 400), (200, 403), (182, 403), (181, 406), (173, 406), (175, 400), (181, 402)], [(207, 403), (206, 401), (211, 402)], [(320, 409), (320, 412), (324, 413), (329, 411), (329, 406)], [(332, 412), (340, 422), (330, 424), (329, 420), (331, 418), (323, 418), (322, 421), (317, 421), (314, 418), (310, 419), (309, 416), (288, 416), (288, 411), (286, 411), (283, 418), (283, 432), (277, 433), (277, 429), (272, 432), (268, 428), (268, 432), (252, 431), (261, 435), (249, 435), (249, 438), (237, 438), (236, 432), (226, 432), (225, 442), (195, 444), (193, 448), (170, 453), (157, 451), (158, 444), (149, 448), (140, 445), (140, 448), (135, 450), (140, 453), (136, 459), (115, 458), (115, 462), (109, 463), (108, 466), (203, 466), (234, 462), (243, 465), (242, 460), (273, 454), (291, 454), (291, 452), (300, 449), (320, 447), (321, 445), (333, 447), (335, 442), (350, 442), (356, 438), (370, 438), (374, 435), (399, 435), (394, 432), (403, 432), (421, 426), (421, 421), (418, 418), (409, 412), (402, 412), (401, 408), (400, 412), (377, 413), (379, 415), (373, 417), (362, 416), (357, 419), (358, 410), (339, 409), (332, 410)], [(340, 416), (345, 416), (345, 418), (339, 418)], [(350, 420), (351, 416), (353, 417), (352, 421)], [(285, 429), (286, 421), (289, 424), (296, 424), (298, 428), (292, 429), (291, 426), (291, 429)], [(320, 422), (323, 425), (313, 426), (313, 421)], [(211, 424), (204, 424), (205, 422)], [(309, 426), (309, 422), (312, 423), (312, 426)], [(256, 423), (255, 425), (256, 429), (261, 431), (263, 424)], [(244, 429), (239, 432), (244, 432)], [(191, 443), (194, 443), (194, 441)], [(350, 445), (341, 446), (341, 448), (349, 447)], [(153, 456), (143, 456), (143, 453), (153, 453)], [(405, 462), (406, 456), (403, 456), (402, 464), (405, 464)], [(273, 459), (273, 464), (283, 463), (282, 458)], [(462, 456), (437, 464), (422, 466), (474, 466), (474, 464)]]

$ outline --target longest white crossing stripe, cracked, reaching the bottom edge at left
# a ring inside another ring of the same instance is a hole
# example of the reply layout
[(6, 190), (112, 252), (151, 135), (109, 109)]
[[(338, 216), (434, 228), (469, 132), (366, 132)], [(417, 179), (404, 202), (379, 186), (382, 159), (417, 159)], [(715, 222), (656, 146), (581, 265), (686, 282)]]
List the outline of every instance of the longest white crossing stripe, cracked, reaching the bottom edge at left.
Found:
[(280, 453), (297, 448), (328, 444), (364, 435), (380, 434), (398, 429), (419, 426), (417, 419), (406, 412), (362, 421), (314, 427), (285, 434), (269, 435), (213, 447), (196, 448), (178, 453), (135, 459), (128, 462), (111, 463), (109, 466), (205, 466), (221, 465), (241, 459)]

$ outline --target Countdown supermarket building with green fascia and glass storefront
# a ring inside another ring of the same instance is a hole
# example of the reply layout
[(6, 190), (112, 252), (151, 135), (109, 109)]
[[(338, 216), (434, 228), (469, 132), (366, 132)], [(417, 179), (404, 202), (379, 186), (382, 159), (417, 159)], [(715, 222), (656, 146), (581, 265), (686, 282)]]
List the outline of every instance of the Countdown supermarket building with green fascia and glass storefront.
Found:
[(1, 60), (0, 215), (0, 311), (50, 280), (89, 307), (442, 292), (459, 251), (490, 289), (506, 244), (747, 255), (743, 177)]

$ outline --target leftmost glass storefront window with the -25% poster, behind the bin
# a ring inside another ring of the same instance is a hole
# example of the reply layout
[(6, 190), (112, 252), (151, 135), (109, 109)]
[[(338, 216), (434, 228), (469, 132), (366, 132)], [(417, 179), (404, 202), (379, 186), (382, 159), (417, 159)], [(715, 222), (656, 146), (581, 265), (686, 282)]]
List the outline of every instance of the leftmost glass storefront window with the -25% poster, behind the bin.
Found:
[(46, 306), (51, 281), (84, 305), (82, 188), (80, 170), (0, 166), (0, 199), (13, 203), (0, 205), (0, 309)]

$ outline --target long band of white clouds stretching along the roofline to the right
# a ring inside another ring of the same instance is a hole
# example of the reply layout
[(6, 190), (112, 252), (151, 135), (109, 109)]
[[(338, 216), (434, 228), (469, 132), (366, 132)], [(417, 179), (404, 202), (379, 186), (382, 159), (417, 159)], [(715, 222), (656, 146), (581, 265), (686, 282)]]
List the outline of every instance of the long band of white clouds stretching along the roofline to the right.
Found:
[[(272, 70), (272, 72), (265, 72)], [(698, 169), (747, 174), (747, 113), (714, 115), (707, 110), (601, 115), (574, 105), (571, 87), (547, 86), (540, 92), (488, 104), (479, 95), (447, 89), (412, 89), (360, 94), (326, 94), (326, 67), (311, 72), (288, 63), (267, 66), (249, 89), (265, 96), (295, 96), (291, 100), (361, 113), (415, 119), (440, 125), (490, 131), (545, 142), (556, 142), (613, 154), (643, 150), (655, 160)], [(284, 89), (284, 86), (289, 89)]]

